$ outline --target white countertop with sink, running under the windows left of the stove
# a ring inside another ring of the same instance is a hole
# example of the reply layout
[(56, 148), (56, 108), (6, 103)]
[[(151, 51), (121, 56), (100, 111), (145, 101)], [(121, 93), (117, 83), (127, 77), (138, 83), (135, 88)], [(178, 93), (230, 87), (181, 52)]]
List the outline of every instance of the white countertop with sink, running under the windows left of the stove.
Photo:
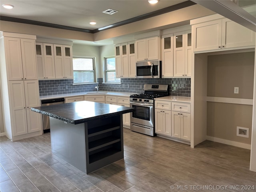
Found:
[(69, 93), (69, 94), (48, 95), (48, 96), (40, 96), (40, 100), (56, 99), (56, 98), (65, 98), (65, 97), (74, 97), (74, 96), (84, 96), (84, 95), (113, 95), (113, 96), (125, 96), (125, 97), (129, 97), (131, 94), (136, 94), (136, 93), (109, 92), (109, 91), (100, 91), (100, 92), (107, 92), (107, 93), (106, 93), (106, 94), (87, 94), (88, 92), (81, 92), (81, 93)]

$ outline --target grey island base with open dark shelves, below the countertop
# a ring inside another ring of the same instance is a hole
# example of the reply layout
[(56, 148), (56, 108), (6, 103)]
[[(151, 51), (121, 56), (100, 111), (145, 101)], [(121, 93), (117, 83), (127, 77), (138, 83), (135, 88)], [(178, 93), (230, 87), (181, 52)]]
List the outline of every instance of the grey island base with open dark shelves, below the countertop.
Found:
[(50, 117), (52, 153), (88, 174), (124, 158), (122, 114), (67, 124)]

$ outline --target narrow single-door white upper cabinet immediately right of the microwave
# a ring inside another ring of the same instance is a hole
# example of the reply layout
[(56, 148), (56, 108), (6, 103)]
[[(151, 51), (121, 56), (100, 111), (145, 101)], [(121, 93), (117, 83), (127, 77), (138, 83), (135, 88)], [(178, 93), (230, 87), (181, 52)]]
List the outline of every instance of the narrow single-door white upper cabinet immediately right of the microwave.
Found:
[(162, 36), (162, 78), (173, 77), (173, 34)]

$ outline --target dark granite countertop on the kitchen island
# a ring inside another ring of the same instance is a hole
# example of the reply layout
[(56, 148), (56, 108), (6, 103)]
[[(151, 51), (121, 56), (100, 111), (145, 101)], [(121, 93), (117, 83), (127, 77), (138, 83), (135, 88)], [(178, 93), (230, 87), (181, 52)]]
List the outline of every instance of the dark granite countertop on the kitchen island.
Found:
[(31, 110), (71, 124), (80, 124), (91, 120), (129, 113), (134, 111), (134, 108), (90, 101), (78, 101), (34, 107)]

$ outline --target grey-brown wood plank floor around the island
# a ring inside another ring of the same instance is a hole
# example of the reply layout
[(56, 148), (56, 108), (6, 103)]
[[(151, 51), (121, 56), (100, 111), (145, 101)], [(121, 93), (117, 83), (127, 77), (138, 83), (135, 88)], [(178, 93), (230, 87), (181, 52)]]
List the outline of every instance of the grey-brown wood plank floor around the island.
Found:
[(249, 163), (250, 150), (210, 141), (192, 149), (124, 129), (124, 159), (86, 175), (51, 153), (49, 133), (16, 142), (3, 136), (0, 191), (256, 191)]

